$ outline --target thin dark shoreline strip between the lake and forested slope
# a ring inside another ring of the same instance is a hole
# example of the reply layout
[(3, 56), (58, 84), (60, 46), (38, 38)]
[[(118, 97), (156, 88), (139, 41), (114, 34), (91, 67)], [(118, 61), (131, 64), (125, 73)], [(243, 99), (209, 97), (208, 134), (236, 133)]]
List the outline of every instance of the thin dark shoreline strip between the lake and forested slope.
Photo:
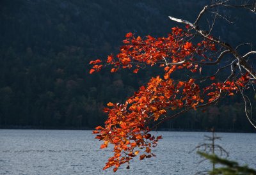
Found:
[[(94, 128), (89, 127), (49, 127), (49, 126), (0, 126), (0, 130), (94, 130)], [(159, 132), (211, 132), (211, 130), (189, 130), (182, 128), (160, 128), (156, 130)], [(243, 130), (221, 130), (216, 129), (215, 132), (229, 132), (229, 133), (256, 133), (255, 132), (246, 132)]]

